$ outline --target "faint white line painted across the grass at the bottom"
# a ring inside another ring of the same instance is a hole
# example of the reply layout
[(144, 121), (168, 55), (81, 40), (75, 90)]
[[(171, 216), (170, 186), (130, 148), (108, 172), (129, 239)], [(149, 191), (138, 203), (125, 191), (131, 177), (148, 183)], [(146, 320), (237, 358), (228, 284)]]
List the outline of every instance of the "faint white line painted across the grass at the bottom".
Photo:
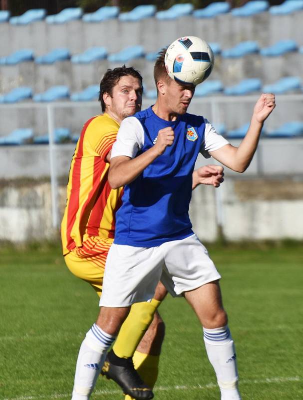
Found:
[[(264, 379), (241, 379), (241, 384), (261, 384), (261, 383), (285, 383), (285, 382), (301, 382), (303, 378), (300, 376), (276, 376), (272, 378), (264, 378)], [(195, 389), (211, 389), (217, 387), (216, 383), (207, 383), (205, 385), (197, 385), (197, 386), (184, 386), (184, 385), (177, 385), (177, 386), (156, 386), (156, 391), (167, 391), (167, 390), (195, 390)], [(96, 390), (94, 394), (117, 394), (121, 393), (121, 390)], [(47, 396), (49, 399), (53, 398), (63, 398), (69, 396), (70, 393), (57, 393), (51, 394)], [(6, 397), (3, 400), (38, 400), (39, 398), (46, 398), (45, 395), (37, 395), (37, 396), (21, 396), (21, 397)]]

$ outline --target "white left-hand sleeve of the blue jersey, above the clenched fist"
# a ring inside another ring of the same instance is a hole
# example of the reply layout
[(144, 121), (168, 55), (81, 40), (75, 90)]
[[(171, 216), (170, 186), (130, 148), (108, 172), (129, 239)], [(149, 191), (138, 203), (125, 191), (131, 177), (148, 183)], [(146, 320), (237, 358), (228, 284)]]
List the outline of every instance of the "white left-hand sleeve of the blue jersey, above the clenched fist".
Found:
[(134, 158), (138, 150), (142, 148), (143, 143), (143, 126), (136, 117), (129, 116), (121, 122), (117, 139), (112, 146), (110, 158), (118, 155)]

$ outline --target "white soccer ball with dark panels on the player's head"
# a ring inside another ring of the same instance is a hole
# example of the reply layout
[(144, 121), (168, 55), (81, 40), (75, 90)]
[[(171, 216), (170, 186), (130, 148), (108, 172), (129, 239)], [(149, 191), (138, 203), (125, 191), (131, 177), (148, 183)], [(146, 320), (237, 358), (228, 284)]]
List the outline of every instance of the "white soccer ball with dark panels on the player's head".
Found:
[(185, 36), (173, 41), (164, 57), (168, 75), (179, 83), (203, 82), (214, 66), (214, 53), (200, 37)]

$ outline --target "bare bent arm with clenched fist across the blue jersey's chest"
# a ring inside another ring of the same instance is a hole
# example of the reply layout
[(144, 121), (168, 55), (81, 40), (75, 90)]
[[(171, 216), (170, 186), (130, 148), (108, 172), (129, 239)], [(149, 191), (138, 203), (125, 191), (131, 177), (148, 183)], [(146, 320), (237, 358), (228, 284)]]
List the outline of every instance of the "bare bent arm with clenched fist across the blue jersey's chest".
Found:
[(160, 129), (156, 143), (138, 155), (130, 158), (126, 155), (118, 155), (111, 158), (108, 171), (108, 181), (113, 189), (132, 182), (140, 173), (164, 153), (167, 146), (174, 141), (174, 131), (171, 127)]

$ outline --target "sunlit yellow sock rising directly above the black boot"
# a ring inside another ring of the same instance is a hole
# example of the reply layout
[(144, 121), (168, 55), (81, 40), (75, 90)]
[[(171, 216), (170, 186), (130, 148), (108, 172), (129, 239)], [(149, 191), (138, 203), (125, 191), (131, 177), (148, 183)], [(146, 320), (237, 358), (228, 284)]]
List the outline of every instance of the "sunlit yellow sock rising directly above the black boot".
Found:
[(160, 303), (161, 301), (153, 298), (150, 302), (143, 301), (131, 306), (113, 345), (113, 350), (118, 357), (132, 357)]

